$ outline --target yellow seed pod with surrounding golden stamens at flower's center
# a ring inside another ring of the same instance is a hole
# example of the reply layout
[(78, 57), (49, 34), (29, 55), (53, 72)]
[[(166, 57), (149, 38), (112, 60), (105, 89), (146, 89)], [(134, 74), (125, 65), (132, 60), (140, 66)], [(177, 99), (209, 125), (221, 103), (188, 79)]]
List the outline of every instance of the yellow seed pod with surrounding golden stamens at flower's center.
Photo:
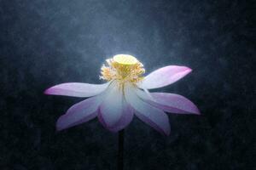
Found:
[(140, 82), (143, 80), (143, 64), (135, 57), (128, 54), (114, 55), (112, 59), (107, 59), (108, 65), (102, 66), (102, 76), (100, 78), (111, 81)]

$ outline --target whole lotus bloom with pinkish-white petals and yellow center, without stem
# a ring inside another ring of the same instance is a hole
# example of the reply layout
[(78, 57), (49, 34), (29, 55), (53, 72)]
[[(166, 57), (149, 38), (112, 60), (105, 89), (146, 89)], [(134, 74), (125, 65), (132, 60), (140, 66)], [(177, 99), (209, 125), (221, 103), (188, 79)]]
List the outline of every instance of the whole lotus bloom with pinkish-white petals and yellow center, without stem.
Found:
[(135, 57), (118, 54), (102, 66), (103, 84), (67, 82), (48, 88), (44, 94), (89, 98), (73, 105), (56, 122), (63, 130), (98, 117), (103, 127), (112, 132), (124, 129), (136, 115), (160, 133), (169, 135), (169, 118), (165, 112), (200, 114), (197, 107), (178, 94), (149, 93), (185, 77), (191, 69), (169, 65), (143, 77), (143, 64)]

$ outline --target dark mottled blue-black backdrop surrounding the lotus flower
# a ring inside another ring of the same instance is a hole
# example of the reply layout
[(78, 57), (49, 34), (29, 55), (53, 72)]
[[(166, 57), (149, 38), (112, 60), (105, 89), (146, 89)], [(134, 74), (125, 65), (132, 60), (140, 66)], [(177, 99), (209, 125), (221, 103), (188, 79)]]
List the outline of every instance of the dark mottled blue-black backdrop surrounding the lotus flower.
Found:
[(116, 169), (117, 133), (96, 119), (56, 133), (57, 118), (81, 99), (43, 92), (101, 83), (104, 60), (123, 53), (147, 73), (192, 68), (158, 91), (182, 94), (202, 113), (169, 114), (169, 137), (135, 118), (125, 129), (125, 169), (253, 169), (253, 8), (236, 0), (0, 0), (0, 169)]

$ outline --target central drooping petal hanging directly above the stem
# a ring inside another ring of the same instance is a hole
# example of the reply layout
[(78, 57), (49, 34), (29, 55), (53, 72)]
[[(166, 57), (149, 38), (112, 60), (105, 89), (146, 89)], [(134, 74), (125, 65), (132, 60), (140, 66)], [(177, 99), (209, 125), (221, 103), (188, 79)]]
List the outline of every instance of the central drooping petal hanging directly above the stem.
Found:
[[(128, 119), (123, 120), (126, 116)], [(119, 87), (109, 89), (99, 109), (99, 120), (103, 126), (112, 131), (119, 130), (129, 124), (130, 119), (131, 108), (127, 105), (123, 92)]]

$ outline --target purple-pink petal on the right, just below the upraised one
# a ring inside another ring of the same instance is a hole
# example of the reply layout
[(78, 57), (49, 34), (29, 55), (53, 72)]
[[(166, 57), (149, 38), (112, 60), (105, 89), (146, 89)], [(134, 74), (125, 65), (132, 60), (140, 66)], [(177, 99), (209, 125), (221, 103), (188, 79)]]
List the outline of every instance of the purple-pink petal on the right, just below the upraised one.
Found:
[[(189, 99), (178, 95), (178, 94), (167, 94), (167, 93), (151, 93), (154, 102), (152, 105), (159, 109), (172, 113), (180, 114), (196, 114), (200, 115), (200, 111), (194, 103)], [(155, 105), (158, 104), (158, 105)]]

